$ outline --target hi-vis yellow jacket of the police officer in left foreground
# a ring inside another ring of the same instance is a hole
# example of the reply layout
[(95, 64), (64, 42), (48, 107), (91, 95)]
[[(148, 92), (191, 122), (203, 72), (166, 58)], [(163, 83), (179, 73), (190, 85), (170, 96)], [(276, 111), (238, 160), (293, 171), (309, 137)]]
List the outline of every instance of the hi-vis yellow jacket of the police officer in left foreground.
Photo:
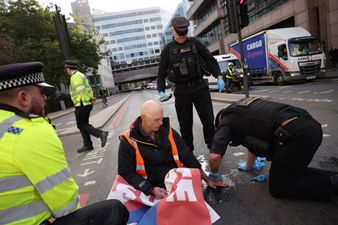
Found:
[(0, 149), (0, 224), (38, 225), (80, 208), (62, 143), (45, 118), (1, 105)]

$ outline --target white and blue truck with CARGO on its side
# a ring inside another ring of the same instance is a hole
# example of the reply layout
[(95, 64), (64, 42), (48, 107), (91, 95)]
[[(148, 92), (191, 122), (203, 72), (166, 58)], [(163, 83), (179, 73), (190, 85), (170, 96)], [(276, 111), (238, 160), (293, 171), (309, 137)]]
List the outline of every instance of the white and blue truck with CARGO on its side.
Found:
[[(238, 42), (230, 51), (240, 58)], [(243, 39), (251, 82), (313, 80), (325, 74), (326, 57), (320, 41), (302, 27), (265, 30)]]

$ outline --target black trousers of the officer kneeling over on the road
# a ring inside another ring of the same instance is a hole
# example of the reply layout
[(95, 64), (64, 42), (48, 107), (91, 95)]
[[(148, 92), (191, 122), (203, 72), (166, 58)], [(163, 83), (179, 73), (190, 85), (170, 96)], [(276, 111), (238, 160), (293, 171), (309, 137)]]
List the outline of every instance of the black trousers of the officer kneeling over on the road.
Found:
[(272, 156), (269, 188), (274, 197), (329, 200), (335, 172), (308, 168), (322, 142), (320, 123), (310, 115), (285, 126), (293, 137), (277, 147)]

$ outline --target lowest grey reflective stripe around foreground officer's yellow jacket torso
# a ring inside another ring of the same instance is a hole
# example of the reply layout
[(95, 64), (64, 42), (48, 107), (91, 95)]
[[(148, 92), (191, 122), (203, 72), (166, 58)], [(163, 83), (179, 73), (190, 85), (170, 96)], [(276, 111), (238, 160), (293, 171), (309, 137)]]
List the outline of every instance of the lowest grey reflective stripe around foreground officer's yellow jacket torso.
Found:
[(43, 201), (32, 202), (26, 205), (0, 210), (0, 224), (13, 223), (15, 221), (36, 216), (46, 211), (49, 211), (49, 209)]

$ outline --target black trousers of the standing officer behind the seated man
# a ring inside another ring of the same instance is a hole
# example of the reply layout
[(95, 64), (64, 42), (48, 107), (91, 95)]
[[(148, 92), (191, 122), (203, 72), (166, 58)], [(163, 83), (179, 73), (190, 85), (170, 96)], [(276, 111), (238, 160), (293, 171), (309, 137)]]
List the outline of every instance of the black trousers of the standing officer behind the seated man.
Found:
[(203, 125), (204, 141), (211, 147), (215, 134), (214, 112), (208, 85), (202, 80), (195, 85), (177, 84), (175, 88), (175, 108), (182, 138), (191, 151), (194, 150), (193, 105)]

